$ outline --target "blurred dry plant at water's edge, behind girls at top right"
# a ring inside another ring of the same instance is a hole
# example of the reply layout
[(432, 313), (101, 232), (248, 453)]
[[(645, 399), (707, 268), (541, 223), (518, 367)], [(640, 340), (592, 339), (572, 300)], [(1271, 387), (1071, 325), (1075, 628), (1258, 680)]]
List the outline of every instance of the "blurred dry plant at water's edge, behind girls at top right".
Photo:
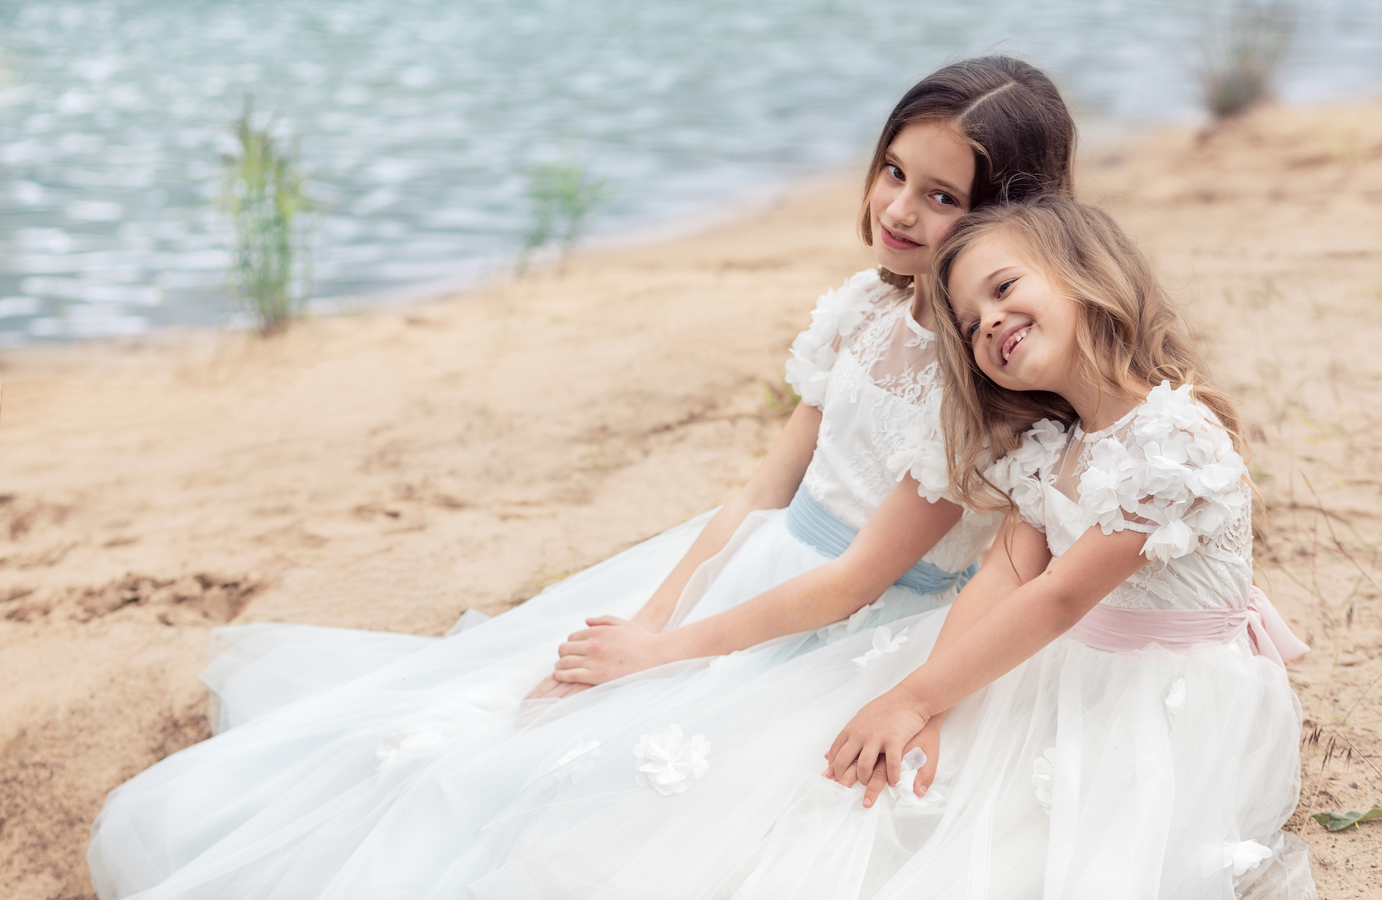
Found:
[(1295, 24), (1289, 0), (1234, 0), (1205, 18), (1194, 75), (1215, 119), (1237, 116), (1271, 94)]

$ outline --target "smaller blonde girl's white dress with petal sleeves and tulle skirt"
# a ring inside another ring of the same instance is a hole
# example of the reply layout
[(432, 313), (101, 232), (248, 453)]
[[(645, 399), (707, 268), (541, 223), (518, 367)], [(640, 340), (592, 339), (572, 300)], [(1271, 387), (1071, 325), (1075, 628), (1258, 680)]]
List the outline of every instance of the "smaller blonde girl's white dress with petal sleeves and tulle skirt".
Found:
[[(1158, 387), (1099, 434), (1039, 423), (994, 477), (1052, 552), (1092, 527), (1148, 535), (1147, 564), (1092, 618), (1176, 611), (1229, 628), (1128, 651), (1083, 643), (1093, 628), (1057, 639), (951, 711), (925, 798), (894, 789), (869, 810), (860, 787), (817, 774), (821, 755), (925, 661), (938, 615), (618, 734), (572, 733), (568, 755), (484, 825), (493, 868), (470, 896), (1313, 899), (1303, 842), (1280, 831), (1299, 792), (1300, 709), (1245, 625), (1244, 471), (1187, 390)], [(710, 671), (737, 680), (738, 665)]]

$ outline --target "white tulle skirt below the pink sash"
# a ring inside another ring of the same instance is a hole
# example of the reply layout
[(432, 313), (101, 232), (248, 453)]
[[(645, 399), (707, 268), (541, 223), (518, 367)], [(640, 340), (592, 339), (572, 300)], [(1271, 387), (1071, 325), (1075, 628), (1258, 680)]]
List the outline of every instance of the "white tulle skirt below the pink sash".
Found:
[[(481, 828), (492, 871), (456, 883), (485, 900), (1314, 897), (1302, 843), (1278, 831), (1299, 794), (1299, 704), (1245, 641), (1182, 655), (1063, 637), (956, 705), (925, 802), (865, 810), (861, 787), (820, 777), (840, 726), (925, 661), (943, 621), (894, 622), (882, 646), (907, 641), (873, 659), (872, 633), (854, 635), (582, 733), (583, 755)], [(640, 784), (645, 735), (690, 759), (679, 792)]]

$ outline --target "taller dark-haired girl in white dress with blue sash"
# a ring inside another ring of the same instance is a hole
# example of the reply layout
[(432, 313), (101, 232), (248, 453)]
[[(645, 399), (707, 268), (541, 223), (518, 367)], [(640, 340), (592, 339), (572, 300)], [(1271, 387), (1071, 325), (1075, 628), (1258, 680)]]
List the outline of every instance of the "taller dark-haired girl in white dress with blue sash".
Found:
[[(1027, 64), (920, 82), (868, 173), (880, 270), (818, 301), (803, 402), (734, 499), (442, 640), (223, 629), (220, 734), (112, 792), (101, 896), (719, 896), (867, 698), (850, 659), (943, 614), (996, 528), (949, 498), (927, 275), (966, 212), (1070, 191), (1072, 148)], [(766, 800), (759, 744), (796, 759)]]

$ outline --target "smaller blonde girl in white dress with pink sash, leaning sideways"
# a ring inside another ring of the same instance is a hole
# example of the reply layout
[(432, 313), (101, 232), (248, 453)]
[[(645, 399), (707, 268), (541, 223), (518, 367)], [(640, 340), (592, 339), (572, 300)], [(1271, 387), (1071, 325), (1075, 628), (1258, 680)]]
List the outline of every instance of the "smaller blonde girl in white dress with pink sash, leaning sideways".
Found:
[(934, 283), (952, 489), (1010, 514), (831, 747), (878, 795), (951, 711), (944, 820), (876, 896), (1313, 896), (1280, 831), (1307, 648), (1252, 586), (1238, 418), (1147, 260), (1048, 196), (967, 216)]

